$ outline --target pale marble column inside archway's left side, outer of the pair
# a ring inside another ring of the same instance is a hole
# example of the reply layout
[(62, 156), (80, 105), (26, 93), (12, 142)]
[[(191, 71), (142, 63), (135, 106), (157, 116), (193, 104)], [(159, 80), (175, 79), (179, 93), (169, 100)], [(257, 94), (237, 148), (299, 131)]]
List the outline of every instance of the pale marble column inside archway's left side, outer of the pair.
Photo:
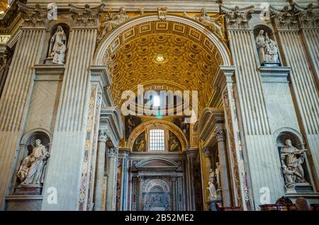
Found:
[(105, 183), (104, 168), (106, 164), (106, 139), (108, 137), (108, 130), (99, 130), (99, 139), (97, 147), (97, 162), (96, 162), (96, 182), (94, 195), (94, 211), (104, 211), (106, 202), (105, 191), (103, 186)]

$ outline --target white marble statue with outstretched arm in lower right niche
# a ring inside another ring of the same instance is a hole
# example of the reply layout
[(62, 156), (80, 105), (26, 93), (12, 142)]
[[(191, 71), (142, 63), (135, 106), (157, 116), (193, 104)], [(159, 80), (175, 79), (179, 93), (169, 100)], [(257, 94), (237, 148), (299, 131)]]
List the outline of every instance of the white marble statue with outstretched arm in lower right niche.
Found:
[(287, 190), (294, 190), (296, 183), (307, 183), (303, 171), (303, 162), (305, 161), (304, 152), (306, 149), (297, 149), (287, 139), (285, 146), (280, 150), (282, 171), (284, 173)]

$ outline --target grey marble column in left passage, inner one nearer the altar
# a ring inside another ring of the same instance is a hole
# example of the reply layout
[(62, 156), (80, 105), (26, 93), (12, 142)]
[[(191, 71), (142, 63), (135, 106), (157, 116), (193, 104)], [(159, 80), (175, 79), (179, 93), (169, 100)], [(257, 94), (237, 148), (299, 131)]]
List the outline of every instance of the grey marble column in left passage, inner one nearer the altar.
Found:
[(106, 211), (115, 211), (116, 200), (116, 168), (118, 149), (108, 149), (108, 171), (107, 171), (107, 184), (106, 184)]

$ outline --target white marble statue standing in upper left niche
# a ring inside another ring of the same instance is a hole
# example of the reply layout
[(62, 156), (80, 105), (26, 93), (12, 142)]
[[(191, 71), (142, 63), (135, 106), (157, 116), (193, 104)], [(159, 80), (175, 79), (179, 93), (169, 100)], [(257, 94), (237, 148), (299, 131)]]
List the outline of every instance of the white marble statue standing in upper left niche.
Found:
[(67, 35), (62, 26), (57, 27), (57, 31), (51, 37), (50, 57), (54, 64), (63, 64), (65, 62), (65, 52), (67, 51)]

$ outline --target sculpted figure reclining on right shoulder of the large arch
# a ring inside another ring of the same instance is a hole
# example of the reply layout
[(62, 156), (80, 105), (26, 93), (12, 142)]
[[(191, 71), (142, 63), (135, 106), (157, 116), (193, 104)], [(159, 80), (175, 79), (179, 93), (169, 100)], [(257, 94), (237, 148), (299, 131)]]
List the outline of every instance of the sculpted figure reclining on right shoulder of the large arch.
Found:
[(208, 16), (206, 13), (206, 8), (201, 8), (201, 16), (189, 16), (186, 12), (184, 12), (184, 16), (203, 23), (203, 25), (216, 32), (220, 37), (223, 36), (223, 24), (218, 22), (218, 19), (221, 16), (218, 16), (217, 18)]

